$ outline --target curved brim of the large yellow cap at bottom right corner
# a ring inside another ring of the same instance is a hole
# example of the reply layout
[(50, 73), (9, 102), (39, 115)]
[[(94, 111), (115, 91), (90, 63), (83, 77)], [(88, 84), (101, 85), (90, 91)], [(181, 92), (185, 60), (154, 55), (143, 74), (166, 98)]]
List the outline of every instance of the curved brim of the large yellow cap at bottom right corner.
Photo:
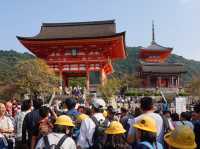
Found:
[(197, 147), (195, 142), (193, 145), (189, 145), (189, 146), (185, 144), (177, 144), (174, 142), (174, 139), (171, 137), (171, 135), (172, 135), (172, 132), (169, 132), (164, 136), (164, 140), (169, 146), (172, 146), (175, 148), (181, 148), (181, 149), (195, 149)]

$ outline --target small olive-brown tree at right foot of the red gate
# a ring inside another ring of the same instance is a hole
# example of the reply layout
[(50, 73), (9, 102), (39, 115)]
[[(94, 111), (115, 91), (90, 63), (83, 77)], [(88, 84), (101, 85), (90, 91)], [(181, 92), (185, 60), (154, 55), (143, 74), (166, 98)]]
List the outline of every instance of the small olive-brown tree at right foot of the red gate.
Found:
[(105, 84), (98, 87), (98, 91), (102, 94), (106, 101), (112, 99), (120, 88), (121, 81), (115, 77), (112, 77), (106, 81)]

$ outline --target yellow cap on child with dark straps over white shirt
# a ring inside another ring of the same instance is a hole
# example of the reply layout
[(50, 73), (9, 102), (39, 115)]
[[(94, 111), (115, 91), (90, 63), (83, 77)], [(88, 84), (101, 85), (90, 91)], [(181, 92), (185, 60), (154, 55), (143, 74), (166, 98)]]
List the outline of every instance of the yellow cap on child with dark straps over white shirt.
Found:
[(75, 126), (72, 122), (72, 119), (69, 116), (61, 115), (56, 118), (56, 125), (64, 125), (64, 126)]

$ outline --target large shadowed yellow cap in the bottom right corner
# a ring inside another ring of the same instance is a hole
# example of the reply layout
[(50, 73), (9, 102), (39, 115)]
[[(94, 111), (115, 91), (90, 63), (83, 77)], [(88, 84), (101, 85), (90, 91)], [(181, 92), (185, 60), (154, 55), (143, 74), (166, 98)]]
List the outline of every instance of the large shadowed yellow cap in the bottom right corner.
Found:
[(179, 126), (164, 137), (169, 146), (177, 149), (195, 149), (195, 135), (193, 130), (187, 126)]

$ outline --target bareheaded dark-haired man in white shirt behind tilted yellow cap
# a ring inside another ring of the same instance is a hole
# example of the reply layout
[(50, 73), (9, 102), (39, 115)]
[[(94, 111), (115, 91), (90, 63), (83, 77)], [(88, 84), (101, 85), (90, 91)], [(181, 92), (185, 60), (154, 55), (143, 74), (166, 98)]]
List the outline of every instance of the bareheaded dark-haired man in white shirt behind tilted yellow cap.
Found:
[(145, 115), (152, 117), (156, 121), (157, 138), (159, 138), (159, 136), (162, 133), (163, 119), (159, 114), (154, 113), (153, 99), (151, 97), (143, 97), (140, 101), (140, 108), (143, 111), (143, 114), (134, 118), (130, 124), (128, 138), (127, 138), (127, 141), (129, 143), (133, 143), (136, 141), (135, 140), (136, 139), (135, 138), (136, 131), (135, 131), (133, 125), (135, 123), (137, 123)]

